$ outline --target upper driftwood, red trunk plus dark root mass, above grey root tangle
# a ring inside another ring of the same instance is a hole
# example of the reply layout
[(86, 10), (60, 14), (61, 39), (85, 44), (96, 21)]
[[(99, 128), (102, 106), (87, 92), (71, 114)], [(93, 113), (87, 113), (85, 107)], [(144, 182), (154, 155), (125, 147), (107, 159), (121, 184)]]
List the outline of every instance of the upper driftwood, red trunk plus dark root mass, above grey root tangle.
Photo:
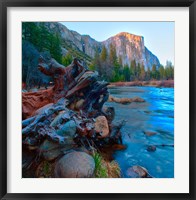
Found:
[[(89, 71), (78, 59), (74, 59), (69, 66), (64, 67), (54, 59), (46, 62), (40, 58), (38, 69), (54, 79), (54, 87), (38, 92), (22, 93), (23, 119), (33, 116), (39, 108), (56, 103), (62, 97), (73, 100), (81, 90), (85, 93), (85, 111), (96, 107), (100, 110), (108, 99), (107, 83), (97, 82), (98, 73)], [(102, 100), (99, 102), (100, 99)]]

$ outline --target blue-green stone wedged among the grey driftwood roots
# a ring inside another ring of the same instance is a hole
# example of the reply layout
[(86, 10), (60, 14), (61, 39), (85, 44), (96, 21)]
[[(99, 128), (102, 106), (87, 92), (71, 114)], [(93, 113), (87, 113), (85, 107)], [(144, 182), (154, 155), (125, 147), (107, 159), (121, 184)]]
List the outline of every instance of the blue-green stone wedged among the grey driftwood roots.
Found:
[(74, 138), (76, 133), (76, 123), (74, 120), (70, 120), (63, 124), (59, 130), (57, 130), (57, 135), (68, 136)]

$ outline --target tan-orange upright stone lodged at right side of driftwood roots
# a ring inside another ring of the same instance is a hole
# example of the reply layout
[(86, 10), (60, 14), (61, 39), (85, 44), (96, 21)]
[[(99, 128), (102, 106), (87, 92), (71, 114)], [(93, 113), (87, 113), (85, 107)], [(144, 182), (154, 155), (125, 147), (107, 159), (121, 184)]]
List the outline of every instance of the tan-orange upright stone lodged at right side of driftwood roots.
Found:
[(95, 131), (100, 134), (99, 138), (108, 137), (110, 131), (106, 117), (99, 116), (95, 120)]

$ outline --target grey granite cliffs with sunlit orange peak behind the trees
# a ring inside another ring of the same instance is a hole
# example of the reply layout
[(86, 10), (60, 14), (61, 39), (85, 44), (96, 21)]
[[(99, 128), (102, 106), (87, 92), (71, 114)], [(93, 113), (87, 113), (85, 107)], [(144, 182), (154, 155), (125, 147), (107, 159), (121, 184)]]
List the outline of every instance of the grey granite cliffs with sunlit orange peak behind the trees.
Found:
[[(50, 22), (45, 23), (45, 26), (49, 31), (60, 34), (62, 41), (65, 41), (69, 47), (84, 51), (85, 54), (91, 58), (94, 57), (96, 51), (99, 53), (101, 52), (103, 45), (105, 45), (109, 53), (110, 45), (112, 44), (116, 46), (117, 56), (122, 58), (122, 64), (124, 65), (128, 64), (130, 66), (130, 62), (135, 60), (136, 63), (143, 64), (145, 69), (147, 69), (147, 67), (151, 69), (154, 64), (157, 67), (160, 66), (158, 58), (145, 47), (143, 36), (121, 32), (103, 42), (98, 42), (89, 35), (80, 35), (76, 31), (69, 30), (60, 23)], [(85, 50), (83, 46), (85, 46)], [(66, 47), (64, 46), (63, 52), (64, 54), (66, 53)]]

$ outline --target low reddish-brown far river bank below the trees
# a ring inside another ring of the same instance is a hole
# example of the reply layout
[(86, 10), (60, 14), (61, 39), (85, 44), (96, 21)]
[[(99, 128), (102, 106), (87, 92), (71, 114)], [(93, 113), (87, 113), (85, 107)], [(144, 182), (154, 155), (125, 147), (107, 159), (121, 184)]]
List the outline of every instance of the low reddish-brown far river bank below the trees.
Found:
[(152, 80), (152, 81), (131, 81), (131, 82), (111, 82), (108, 87), (122, 86), (153, 86), (153, 87), (174, 87), (174, 80)]

